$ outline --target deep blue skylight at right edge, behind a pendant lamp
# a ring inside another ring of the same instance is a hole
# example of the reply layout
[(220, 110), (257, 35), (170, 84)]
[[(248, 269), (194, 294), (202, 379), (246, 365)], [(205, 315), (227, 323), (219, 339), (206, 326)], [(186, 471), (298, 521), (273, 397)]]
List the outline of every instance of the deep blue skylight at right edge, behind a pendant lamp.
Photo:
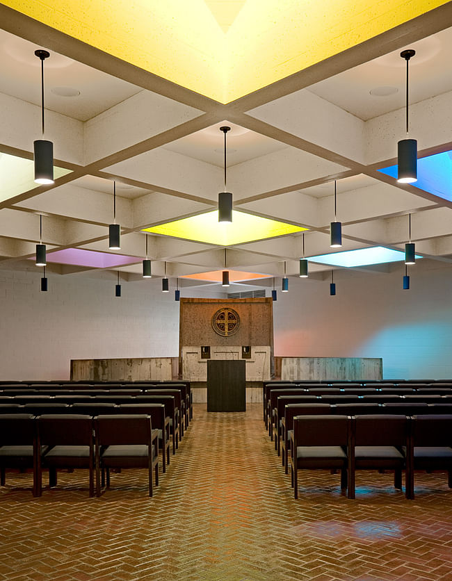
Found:
[[(397, 179), (397, 165), (378, 170)], [(452, 201), (452, 152), (442, 152), (417, 160), (417, 181), (410, 184), (443, 199)]]

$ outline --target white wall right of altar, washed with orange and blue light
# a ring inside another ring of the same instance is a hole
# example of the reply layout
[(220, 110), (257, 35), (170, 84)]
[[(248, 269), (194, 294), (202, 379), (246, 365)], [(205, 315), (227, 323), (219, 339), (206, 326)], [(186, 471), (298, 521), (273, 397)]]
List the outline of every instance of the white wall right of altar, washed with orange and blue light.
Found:
[(452, 266), (291, 279), (273, 305), (275, 357), (382, 357), (385, 379), (452, 377)]

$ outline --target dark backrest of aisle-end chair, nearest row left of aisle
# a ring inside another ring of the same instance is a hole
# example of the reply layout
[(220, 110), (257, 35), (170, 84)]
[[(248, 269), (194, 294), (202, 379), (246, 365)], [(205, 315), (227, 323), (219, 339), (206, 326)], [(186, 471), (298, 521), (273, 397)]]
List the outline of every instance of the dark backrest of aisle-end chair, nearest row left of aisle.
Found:
[(96, 441), (99, 445), (149, 445), (151, 428), (151, 416), (145, 414), (115, 414), (95, 418)]

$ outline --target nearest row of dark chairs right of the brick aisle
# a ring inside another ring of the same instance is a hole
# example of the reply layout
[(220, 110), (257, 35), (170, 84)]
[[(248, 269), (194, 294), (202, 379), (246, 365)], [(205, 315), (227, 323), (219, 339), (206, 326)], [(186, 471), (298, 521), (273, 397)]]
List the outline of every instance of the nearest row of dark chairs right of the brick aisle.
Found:
[(357, 470), (394, 470), (394, 486), (414, 498), (415, 470), (446, 470), (452, 488), (452, 415), (296, 416), (290, 434), (291, 485), (298, 470), (341, 472), (341, 489), (355, 498)]

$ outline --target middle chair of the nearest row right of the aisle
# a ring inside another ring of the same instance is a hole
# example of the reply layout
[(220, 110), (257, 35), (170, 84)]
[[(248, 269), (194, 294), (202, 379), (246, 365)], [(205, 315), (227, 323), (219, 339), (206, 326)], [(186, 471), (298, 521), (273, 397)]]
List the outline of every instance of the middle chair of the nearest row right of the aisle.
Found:
[(406, 416), (352, 416), (350, 422), (348, 498), (355, 498), (356, 470), (394, 470), (394, 487), (401, 490), (409, 434)]

